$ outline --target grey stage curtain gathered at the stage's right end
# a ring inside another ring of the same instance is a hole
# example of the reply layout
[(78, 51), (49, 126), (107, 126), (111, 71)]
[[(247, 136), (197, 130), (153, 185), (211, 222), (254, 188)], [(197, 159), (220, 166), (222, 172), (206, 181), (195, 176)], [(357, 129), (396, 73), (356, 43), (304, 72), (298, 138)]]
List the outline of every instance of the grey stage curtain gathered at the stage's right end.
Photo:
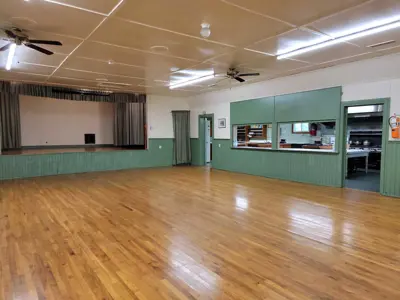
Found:
[(114, 145), (145, 145), (145, 103), (115, 103)]

